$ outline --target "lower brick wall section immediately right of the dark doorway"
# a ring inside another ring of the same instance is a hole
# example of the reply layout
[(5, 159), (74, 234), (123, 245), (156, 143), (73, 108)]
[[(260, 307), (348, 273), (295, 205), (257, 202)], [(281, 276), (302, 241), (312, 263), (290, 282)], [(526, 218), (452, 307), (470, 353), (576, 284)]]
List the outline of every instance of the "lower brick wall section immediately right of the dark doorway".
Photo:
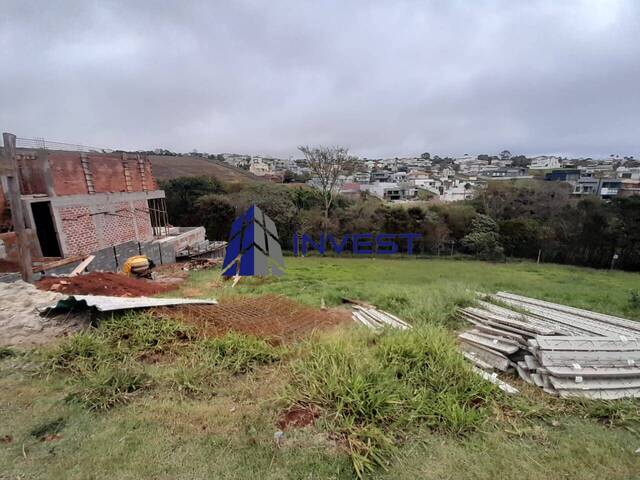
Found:
[(66, 256), (86, 255), (99, 250), (96, 227), (88, 207), (59, 207)]

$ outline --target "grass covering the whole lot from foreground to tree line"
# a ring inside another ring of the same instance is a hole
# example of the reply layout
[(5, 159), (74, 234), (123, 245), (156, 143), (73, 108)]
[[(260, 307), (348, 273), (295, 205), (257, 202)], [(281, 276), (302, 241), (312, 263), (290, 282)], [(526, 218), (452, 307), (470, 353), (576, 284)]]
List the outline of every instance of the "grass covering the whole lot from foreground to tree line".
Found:
[[(280, 279), (194, 272), (187, 296), (342, 297), (413, 322), (299, 345), (196, 338), (135, 315), (35, 352), (0, 351), (0, 479), (633, 479), (639, 402), (503, 397), (460, 361), (451, 328), (473, 291), (508, 290), (640, 318), (640, 275), (532, 263), (287, 258)], [(172, 296), (175, 295), (172, 294)], [(291, 405), (313, 426), (286, 430)], [(10, 437), (10, 438), (9, 438)], [(367, 468), (371, 467), (368, 471)]]

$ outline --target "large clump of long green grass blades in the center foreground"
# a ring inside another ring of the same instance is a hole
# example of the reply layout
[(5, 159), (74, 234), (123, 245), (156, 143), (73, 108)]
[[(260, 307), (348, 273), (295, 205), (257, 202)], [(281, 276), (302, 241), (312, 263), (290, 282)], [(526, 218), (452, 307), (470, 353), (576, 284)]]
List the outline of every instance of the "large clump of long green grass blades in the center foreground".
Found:
[(487, 418), (499, 396), (476, 375), (443, 328), (370, 332), (309, 343), (292, 365), (288, 399), (325, 412), (359, 477), (384, 467), (417, 423), (461, 434)]

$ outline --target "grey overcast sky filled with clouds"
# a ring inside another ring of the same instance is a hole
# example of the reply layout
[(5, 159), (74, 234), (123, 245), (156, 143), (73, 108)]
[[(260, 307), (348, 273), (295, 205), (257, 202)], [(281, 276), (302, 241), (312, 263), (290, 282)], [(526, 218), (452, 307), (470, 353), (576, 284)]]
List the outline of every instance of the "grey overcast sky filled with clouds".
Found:
[(640, 157), (640, 1), (0, 1), (0, 129), (109, 148)]

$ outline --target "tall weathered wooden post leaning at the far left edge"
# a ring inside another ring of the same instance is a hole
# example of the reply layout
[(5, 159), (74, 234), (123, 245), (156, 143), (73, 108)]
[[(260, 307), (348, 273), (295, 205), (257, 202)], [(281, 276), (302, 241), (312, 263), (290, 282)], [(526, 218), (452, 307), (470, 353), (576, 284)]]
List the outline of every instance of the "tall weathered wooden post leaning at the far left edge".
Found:
[(13, 230), (16, 232), (18, 245), (18, 255), (20, 256), (20, 272), (25, 282), (33, 283), (33, 270), (31, 265), (31, 249), (29, 239), (24, 225), (24, 212), (22, 211), (22, 200), (20, 199), (20, 172), (16, 159), (16, 136), (11, 133), (3, 133), (4, 142), (4, 162), (0, 168), (0, 173), (6, 176), (9, 187), (8, 197), (11, 202), (11, 221)]

